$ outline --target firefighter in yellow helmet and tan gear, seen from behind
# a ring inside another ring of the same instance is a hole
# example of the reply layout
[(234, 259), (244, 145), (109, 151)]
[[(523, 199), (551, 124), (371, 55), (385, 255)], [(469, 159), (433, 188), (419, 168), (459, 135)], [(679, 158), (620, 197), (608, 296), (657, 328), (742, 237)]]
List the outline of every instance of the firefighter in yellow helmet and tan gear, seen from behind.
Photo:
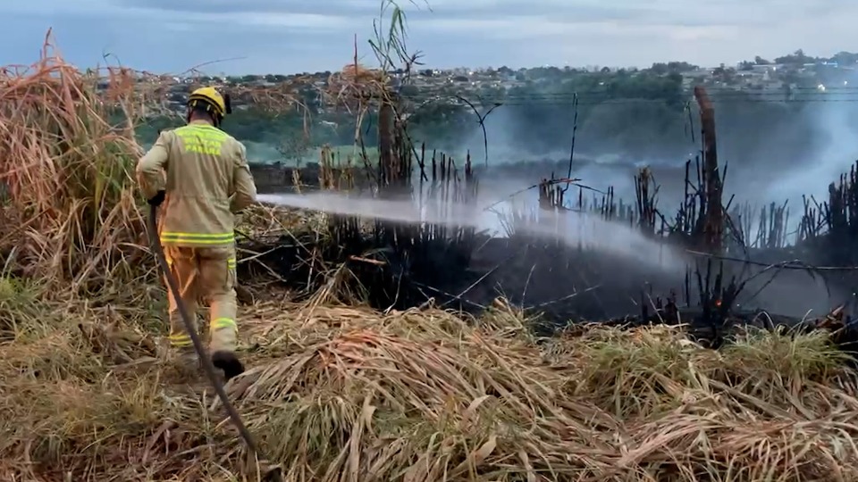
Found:
[[(158, 236), (182, 303), (190, 313), (199, 299), (209, 304), (209, 353), (227, 380), (244, 371), (235, 354), (234, 215), (257, 197), (245, 146), (220, 129), (228, 113), (229, 96), (198, 88), (188, 99), (187, 125), (160, 133), (137, 165), (148, 204), (161, 206)], [(167, 294), (170, 344), (181, 358), (196, 361), (176, 300)]]

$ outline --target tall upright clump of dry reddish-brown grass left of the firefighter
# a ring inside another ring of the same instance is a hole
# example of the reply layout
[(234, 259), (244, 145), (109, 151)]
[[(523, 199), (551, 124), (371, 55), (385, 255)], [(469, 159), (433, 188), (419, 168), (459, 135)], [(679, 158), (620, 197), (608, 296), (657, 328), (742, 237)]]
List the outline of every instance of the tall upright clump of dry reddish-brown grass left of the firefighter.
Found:
[[(135, 202), (133, 73), (81, 72), (55, 54), (0, 71), (0, 183), (10, 226), (0, 239), (22, 274), (47, 287), (94, 288), (137, 276), (143, 220)], [(99, 83), (102, 88), (99, 88)], [(124, 118), (122, 125), (108, 119)]]

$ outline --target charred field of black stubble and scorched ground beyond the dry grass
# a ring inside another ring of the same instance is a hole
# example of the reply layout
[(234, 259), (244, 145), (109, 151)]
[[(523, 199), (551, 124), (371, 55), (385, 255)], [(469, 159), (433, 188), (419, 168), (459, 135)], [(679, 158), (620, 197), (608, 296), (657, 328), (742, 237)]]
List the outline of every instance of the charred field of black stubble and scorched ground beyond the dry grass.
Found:
[[(526, 313), (542, 314), (546, 331), (570, 321), (682, 321), (715, 343), (736, 321), (792, 325), (825, 320), (832, 311), (843, 318), (842, 307), (852, 300), (850, 267), (858, 264), (849, 248), (858, 234), (854, 169), (835, 179), (827, 200), (806, 200), (790, 219), (783, 204), (755, 211), (737, 196), (725, 198), (724, 170), (707, 165), (705, 154), (679, 167), (623, 167), (630, 199), (589, 179), (567, 179), (568, 161), (478, 172), (470, 159), (425, 149), (402, 151), (400, 160), (387, 189), (429, 209), (525, 201), (499, 214), (500, 233), (331, 216), (325, 243), (317, 233), (299, 241), (294, 233), (248, 241), (248, 250), (265, 254), (247, 264), (245, 276), (275, 272), (311, 293), (318, 287), (313, 279), (322, 279), (318, 273), (337, 266), (348, 272), (337, 289), (359, 293), (379, 309), (434, 303), (483, 312), (502, 296)], [(302, 170), (273, 166), (254, 174), (262, 192), (360, 193), (377, 186), (379, 171), (357, 164), (323, 159)], [(586, 161), (574, 168), (606, 169)], [(662, 209), (662, 197), (673, 202)], [(615, 245), (625, 236), (659, 247), (618, 253), (594, 245), (598, 239), (564, 239), (563, 222), (582, 217), (625, 229), (612, 235)]]

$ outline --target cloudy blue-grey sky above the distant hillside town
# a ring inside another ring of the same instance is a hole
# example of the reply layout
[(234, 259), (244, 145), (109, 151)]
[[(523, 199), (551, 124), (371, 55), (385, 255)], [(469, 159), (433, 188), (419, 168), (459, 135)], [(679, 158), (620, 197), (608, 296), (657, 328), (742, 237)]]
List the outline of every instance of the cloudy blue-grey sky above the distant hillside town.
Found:
[[(408, 45), (429, 66), (704, 65), (858, 50), (853, 0), (400, 0)], [(428, 4), (423, 3), (427, 1)], [(379, 0), (19, 0), (0, 6), (0, 62), (38, 58), (48, 28), (81, 66), (210, 73), (337, 70)], [(387, 20), (387, 19), (385, 19)]]

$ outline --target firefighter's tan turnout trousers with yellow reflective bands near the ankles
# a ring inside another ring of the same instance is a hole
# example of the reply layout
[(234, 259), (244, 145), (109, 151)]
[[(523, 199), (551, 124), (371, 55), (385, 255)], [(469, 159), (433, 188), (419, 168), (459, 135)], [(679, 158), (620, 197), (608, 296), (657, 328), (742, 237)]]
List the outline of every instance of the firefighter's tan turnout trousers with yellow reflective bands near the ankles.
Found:
[[(195, 329), (198, 301), (208, 303), (210, 353), (234, 352), (238, 331), (235, 322), (238, 311), (235, 297), (235, 248), (164, 245), (164, 256), (172, 275), (179, 282), (181, 301), (188, 307)], [(185, 331), (172, 290), (167, 289), (167, 296), (170, 302), (170, 345), (191, 348), (193, 343)]]

